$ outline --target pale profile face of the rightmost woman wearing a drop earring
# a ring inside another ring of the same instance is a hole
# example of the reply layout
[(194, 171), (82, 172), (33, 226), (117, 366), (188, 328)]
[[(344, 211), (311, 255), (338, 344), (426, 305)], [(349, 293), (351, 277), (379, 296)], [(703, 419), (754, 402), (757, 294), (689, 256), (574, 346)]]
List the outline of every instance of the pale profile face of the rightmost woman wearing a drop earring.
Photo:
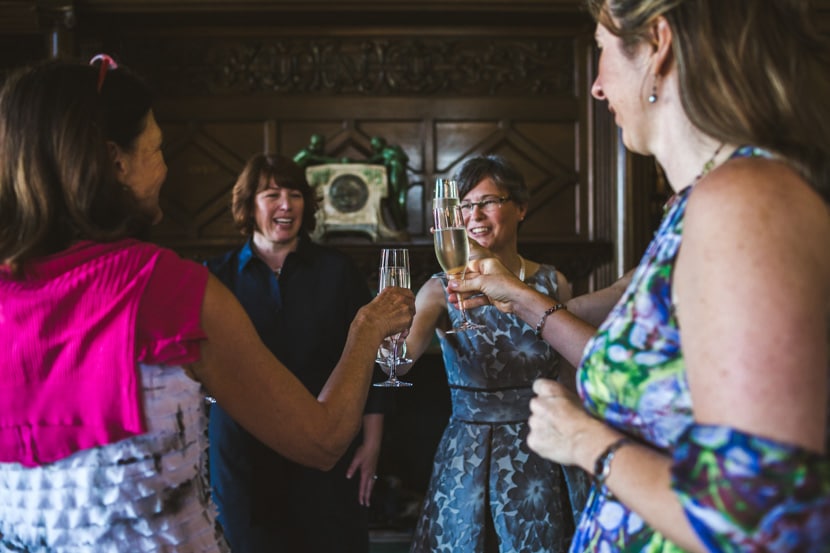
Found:
[(634, 152), (648, 154), (646, 147), (650, 117), (648, 103), (654, 76), (650, 74), (648, 46), (640, 44), (631, 53), (623, 41), (602, 24), (594, 37), (600, 49), (597, 78), (591, 95), (608, 102), (614, 122), (622, 130), (623, 143)]

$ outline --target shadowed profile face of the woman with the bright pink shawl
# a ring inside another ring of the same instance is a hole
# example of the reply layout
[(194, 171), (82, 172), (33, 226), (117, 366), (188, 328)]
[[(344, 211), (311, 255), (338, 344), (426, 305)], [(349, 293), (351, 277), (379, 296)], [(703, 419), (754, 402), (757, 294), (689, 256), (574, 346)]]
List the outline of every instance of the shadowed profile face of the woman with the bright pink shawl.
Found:
[(167, 178), (161, 146), (161, 129), (152, 111), (147, 114), (144, 130), (136, 138), (132, 150), (126, 151), (111, 143), (118, 180), (132, 190), (142, 210), (151, 215), (154, 223), (162, 218), (159, 193)]

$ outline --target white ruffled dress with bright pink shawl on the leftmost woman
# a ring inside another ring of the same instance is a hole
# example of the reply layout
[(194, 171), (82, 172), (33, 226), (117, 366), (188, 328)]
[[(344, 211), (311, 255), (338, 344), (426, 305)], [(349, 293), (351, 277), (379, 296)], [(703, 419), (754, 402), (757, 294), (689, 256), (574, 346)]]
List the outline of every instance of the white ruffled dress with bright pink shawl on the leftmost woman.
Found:
[[(31, 404), (17, 419), (14, 398), (1, 406), (11, 446), (0, 462), (0, 551), (228, 551), (207, 485), (204, 392), (182, 368), (201, 354), (207, 269), (124, 240), (79, 242), (33, 261), (24, 279), (0, 276), (0, 385)], [(140, 431), (117, 434), (123, 418), (109, 406), (131, 402)], [(50, 450), (44, 435), (62, 439)]]

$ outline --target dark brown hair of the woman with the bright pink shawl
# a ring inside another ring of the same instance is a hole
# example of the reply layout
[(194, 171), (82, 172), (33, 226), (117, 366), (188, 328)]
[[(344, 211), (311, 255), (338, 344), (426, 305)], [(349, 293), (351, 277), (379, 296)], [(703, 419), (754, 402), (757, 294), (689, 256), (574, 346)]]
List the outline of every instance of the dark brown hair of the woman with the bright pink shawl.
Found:
[(73, 241), (116, 240), (151, 220), (115, 174), (107, 142), (135, 146), (151, 109), (146, 85), (111, 69), (48, 61), (12, 73), (0, 92), (0, 261), (16, 274)]

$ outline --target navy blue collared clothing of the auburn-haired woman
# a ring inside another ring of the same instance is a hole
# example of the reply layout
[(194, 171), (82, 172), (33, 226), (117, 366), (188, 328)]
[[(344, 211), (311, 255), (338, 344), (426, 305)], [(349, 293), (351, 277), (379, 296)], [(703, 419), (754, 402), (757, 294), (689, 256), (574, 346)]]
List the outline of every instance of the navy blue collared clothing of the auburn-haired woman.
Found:
[[(352, 260), (301, 237), (279, 278), (250, 240), (206, 264), (239, 299), (268, 349), (316, 396), (340, 359), (357, 310), (371, 300)], [(373, 380), (383, 379), (376, 367)], [(382, 413), (389, 400), (387, 390), (372, 388), (365, 412)], [(322, 472), (273, 452), (218, 405), (211, 408), (209, 433), (211, 485), (234, 552), (368, 548), (359, 474), (345, 477), (362, 436), (335, 468)]]

